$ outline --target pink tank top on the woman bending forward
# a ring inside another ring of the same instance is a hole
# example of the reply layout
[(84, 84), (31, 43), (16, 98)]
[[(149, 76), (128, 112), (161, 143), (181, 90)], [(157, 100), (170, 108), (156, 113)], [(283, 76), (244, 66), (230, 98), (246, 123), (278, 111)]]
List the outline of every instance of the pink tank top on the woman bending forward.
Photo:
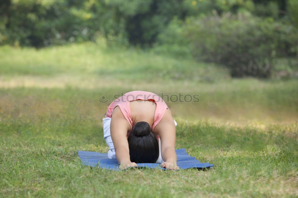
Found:
[[(119, 106), (119, 108), (122, 111), (122, 114), (124, 115), (125, 119), (129, 122), (131, 129), (133, 128), (132, 125), (132, 119), (131, 119), (131, 110), (130, 110), (130, 103), (134, 100), (151, 100), (156, 103), (156, 109), (154, 113), (154, 122), (152, 125), (152, 131), (156, 127), (156, 125), (162, 120), (162, 117), (164, 116), (164, 112), (166, 109), (169, 109), (167, 104), (162, 100), (162, 98), (152, 92), (145, 92), (145, 91), (132, 91), (128, 92), (121, 97), (115, 99), (109, 106), (108, 110), (106, 112), (106, 117), (112, 117), (113, 110), (116, 106)], [(170, 109), (169, 109), (170, 111)], [(171, 111), (170, 111), (171, 112)], [(130, 133), (130, 132), (129, 132)], [(127, 136), (129, 135), (127, 134)]]

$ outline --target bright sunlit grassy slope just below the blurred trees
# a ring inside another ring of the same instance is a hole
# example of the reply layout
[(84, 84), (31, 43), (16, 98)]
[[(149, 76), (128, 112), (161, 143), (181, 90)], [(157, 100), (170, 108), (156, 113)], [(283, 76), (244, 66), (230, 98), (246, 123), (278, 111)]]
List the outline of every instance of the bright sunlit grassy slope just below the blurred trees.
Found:
[(130, 81), (189, 79), (220, 81), (228, 71), (192, 59), (177, 60), (134, 48), (105, 48), (93, 43), (41, 50), (1, 46), (0, 73), (6, 76), (53, 76), (60, 73), (95, 75), (96, 78)]

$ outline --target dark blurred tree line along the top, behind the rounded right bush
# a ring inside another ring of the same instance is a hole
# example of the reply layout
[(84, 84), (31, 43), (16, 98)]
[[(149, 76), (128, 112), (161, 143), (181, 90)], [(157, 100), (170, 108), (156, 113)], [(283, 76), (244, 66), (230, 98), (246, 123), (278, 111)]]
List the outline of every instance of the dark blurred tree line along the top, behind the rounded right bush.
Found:
[(297, 0), (2, 0), (0, 44), (42, 47), (104, 35), (152, 46), (174, 17), (247, 12), (278, 20), (289, 11), (297, 24), (296, 9)]

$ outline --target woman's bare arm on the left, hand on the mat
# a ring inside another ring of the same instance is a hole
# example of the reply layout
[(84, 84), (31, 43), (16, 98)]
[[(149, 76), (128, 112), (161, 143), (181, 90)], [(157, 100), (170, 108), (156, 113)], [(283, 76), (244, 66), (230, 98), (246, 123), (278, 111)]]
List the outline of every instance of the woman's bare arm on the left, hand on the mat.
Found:
[(127, 131), (130, 129), (128, 121), (122, 115), (119, 107), (116, 107), (112, 113), (111, 120), (111, 138), (114, 144), (117, 161), (120, 163), (120, 169), (131, 166), (137, 166), (130, 161), (129, 148), (127, 142)]

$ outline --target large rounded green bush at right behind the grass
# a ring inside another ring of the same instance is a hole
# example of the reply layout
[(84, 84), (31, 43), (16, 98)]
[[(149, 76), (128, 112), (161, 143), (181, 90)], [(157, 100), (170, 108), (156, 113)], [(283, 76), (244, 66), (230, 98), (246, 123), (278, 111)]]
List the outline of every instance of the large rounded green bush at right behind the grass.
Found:
[(271, 19), (224, 14), (189, 20), (186, 31), (196, 59), (226, 65), (234, 77), (269, 77), (277, 48), (286, 40), (283, 29)]

